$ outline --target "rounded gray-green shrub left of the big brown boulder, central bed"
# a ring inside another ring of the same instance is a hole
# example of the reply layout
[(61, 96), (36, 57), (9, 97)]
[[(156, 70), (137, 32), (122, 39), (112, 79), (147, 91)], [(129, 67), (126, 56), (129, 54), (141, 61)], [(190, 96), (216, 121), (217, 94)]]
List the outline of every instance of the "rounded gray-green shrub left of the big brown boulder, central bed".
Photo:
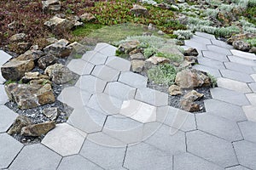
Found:
[(171, 86), (175, 81), (176, 74), (176, 68), (170, 64), (156, 65), (148, 70), (149, 80), (164, 86)]

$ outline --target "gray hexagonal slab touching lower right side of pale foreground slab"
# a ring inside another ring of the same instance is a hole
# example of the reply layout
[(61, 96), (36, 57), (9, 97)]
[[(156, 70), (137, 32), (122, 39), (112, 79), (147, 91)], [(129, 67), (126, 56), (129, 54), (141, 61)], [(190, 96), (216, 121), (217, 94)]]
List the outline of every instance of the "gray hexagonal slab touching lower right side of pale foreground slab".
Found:
[(123, 165), (125, 149), (125, 147), (109, 147), (107, 145), (97, 144), (86, 139), (80, 155), (95, 162), (104, 169), (118, 170)]

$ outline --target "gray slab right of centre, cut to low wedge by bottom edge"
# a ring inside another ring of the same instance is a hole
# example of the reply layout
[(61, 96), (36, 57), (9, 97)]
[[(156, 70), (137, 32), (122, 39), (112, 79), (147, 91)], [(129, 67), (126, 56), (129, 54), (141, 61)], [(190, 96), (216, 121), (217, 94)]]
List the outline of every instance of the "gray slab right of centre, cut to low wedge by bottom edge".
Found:
[(211, 170), (224, 170), (223, 167), (219, 167), (210, 161), (204, 160), (189, 153), (174, 156), (173, 170), (206, 170), (209, 168)]

